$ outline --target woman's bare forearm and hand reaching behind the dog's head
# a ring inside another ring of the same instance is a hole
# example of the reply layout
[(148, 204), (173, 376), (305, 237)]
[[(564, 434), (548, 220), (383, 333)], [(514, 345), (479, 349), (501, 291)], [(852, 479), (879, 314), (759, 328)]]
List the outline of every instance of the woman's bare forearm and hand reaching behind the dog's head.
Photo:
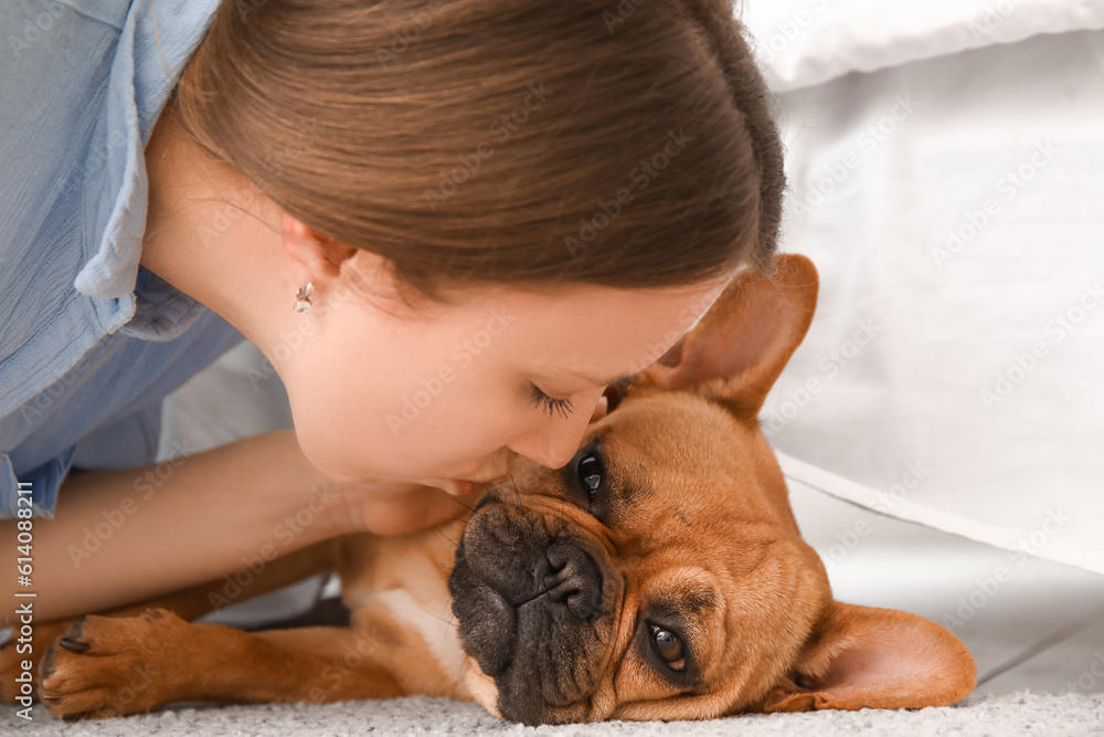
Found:
[[(0, 597), (34, 591), (47, 622), (214, 580), (321, 539), (396, 534), (464, 512), (440, 489), (338, 484), (299, 450), (294, 430), (246, 438), (157, 465), (70, 474), (54, 519), (34, 518), (33, 586), (0, 577)], [(0, 520), (0, 564), (14, 571), (14, 519)], [(14, 604), (0, 609), (13, 622)]]

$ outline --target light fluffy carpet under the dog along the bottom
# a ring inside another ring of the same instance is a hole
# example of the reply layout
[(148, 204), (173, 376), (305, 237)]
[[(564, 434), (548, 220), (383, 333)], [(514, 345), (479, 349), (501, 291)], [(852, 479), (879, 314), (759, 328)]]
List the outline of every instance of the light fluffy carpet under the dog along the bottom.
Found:
[[(1104, 734), (1104, 697), (1081, 694), (974, 696), (959, 707), (887, 712), (819, 712), (731, 717), (713, 722), (607, 722), (524, 727), (498, 722), (475, 704), (439, 698), (400, 698), (343, 704), (176, 706), (126, 719), (66, 724), (41, 706), (28, 723), (13, 708), (0, 710), (4, 735), (1013, 735)], [(17, 731), (18, 730), (18, 731)]]

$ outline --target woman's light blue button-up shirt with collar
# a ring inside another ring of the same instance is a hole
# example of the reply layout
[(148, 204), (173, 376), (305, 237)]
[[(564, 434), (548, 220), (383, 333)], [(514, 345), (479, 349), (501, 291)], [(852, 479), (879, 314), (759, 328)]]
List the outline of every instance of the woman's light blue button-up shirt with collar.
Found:
[(244, 339), (138, 264), (142, 151), (219, 2), (152, 4), (0, 3), (0, 517), (155, 462), (161, 400)]

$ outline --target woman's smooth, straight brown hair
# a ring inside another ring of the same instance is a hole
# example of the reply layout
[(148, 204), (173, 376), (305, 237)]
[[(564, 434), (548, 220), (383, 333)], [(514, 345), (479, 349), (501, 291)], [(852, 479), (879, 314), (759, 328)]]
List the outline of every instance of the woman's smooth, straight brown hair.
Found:
[(771, 103), (726, 0), (223, 0), (170, 107), (288, 213), (443, 299), (769, 273)]

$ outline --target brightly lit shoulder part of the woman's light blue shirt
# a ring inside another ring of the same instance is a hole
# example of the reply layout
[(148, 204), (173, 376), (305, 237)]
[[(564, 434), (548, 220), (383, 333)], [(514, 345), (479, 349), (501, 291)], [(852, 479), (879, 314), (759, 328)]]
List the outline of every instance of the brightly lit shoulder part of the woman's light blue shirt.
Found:
[(217, 4), (0, 3), (0, 415), (135, 317), (141, 154)]

